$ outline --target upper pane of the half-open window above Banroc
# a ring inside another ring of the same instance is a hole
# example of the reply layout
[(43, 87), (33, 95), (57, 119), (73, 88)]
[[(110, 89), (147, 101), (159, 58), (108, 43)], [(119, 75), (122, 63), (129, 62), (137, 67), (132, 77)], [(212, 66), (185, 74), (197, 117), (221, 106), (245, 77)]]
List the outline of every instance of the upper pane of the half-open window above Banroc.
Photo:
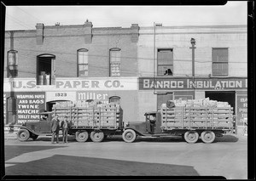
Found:
[(158, 65), (173, 65), (172, 49), (159, 49), (157, 52)]

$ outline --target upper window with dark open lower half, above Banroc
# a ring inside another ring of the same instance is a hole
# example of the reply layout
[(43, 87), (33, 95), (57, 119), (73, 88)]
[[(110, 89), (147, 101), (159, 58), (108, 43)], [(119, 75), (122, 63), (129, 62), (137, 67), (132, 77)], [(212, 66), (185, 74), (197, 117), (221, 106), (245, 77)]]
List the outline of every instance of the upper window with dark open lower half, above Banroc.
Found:
[(173, 52), (172, 49), (157, 50), (157, 75), (172, 76)]

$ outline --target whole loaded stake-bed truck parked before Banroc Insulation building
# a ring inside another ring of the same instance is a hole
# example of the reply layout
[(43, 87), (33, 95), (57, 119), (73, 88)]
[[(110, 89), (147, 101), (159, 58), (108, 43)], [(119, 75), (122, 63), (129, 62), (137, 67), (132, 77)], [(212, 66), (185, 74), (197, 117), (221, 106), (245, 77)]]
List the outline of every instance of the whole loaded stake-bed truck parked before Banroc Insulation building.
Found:
[(182, 136), (189, 144), (195, 144), (200, 138), (210, 144), (216, 136), (233, 132), (233, 108), (227, 104), (216, 106), (194, 105), (174, 106), (166, 104), (159, 111), (145, 113), (145, 122), (128, 122), (123, 139), (127, 143), (135, 141), (137, 136), (169, 137)]

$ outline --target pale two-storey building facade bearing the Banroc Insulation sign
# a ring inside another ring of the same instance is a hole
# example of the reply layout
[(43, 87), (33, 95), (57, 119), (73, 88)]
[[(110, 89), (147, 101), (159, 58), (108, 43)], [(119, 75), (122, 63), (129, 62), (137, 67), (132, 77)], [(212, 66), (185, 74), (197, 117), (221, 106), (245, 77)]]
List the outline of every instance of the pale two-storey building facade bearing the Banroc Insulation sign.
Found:
[(246, 25), (154, 25), (141, 27), (139, 33), (141, 118), (146, 110), (160, 110), (166, 99), (210, 98), (229, 102), (236, 126), (243, 129), (247, 117)]

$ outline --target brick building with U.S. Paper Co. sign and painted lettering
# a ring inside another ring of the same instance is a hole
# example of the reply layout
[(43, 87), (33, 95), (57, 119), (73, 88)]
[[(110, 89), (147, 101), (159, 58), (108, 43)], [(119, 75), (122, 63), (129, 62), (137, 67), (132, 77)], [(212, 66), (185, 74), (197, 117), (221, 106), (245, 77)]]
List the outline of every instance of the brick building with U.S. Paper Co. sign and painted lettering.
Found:
[(51, 110), (55, 101), (86, 99), (119, 101), (125, 120), (137, 118), (137, 24), (38, 24), (5, 37), (6, 124), (37, 120), (38, 111)]

